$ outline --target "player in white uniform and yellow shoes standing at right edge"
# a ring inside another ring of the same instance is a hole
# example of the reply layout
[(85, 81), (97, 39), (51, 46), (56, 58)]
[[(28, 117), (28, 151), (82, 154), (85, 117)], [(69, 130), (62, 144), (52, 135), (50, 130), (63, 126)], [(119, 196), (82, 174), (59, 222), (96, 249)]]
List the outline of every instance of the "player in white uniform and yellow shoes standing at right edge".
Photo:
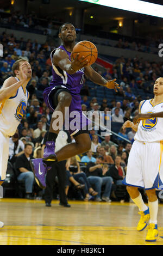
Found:
[[(145, 229), (149, 220), (146, 241), (156, 241), (158, 236), (158, 198), (155, 188), (162, 188), (163, 182), (163, 77), (155, 81), (153, 93), (153, 99), (140, 102), (139, 114), (134, 123), (126, 121), (123, 124), (123, 128), (132, 127), (136, 131), (123, 182), (140, 210), (137, 230)], [(146, 190), (148, 207), (142, 200), (139, 187)]]

